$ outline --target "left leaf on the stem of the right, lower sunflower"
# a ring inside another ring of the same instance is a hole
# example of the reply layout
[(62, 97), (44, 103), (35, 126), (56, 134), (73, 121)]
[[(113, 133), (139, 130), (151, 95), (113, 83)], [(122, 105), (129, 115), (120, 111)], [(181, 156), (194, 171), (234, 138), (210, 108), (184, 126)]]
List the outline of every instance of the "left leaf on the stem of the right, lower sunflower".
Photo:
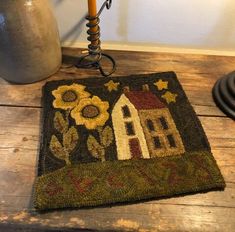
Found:
[(89, 135), (87, 139), (87, 148), (93, 157), (105, 161), (105, 149), (97, 142), (93, 135)]

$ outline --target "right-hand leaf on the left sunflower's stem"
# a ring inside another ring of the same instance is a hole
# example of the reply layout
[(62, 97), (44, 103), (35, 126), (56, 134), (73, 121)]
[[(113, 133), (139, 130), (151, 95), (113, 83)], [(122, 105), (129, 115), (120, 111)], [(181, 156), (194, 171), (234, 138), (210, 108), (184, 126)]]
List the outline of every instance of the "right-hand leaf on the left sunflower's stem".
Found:
[(63, 134), (63, 145), (68, 153), (71, 153), (77, 146), (78, 139), (78, 132), (74, 126), (70, 127), (69, 130)]

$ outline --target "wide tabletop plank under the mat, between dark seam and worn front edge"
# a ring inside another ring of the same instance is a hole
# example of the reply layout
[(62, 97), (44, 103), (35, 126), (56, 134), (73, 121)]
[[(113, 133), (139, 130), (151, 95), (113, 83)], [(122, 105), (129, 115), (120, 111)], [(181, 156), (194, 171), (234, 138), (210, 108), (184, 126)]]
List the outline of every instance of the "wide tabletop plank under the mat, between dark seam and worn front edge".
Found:
[[(15, 216), (9, 215), (15, 215), (22, 210), (33, 211), (31, 196), (38, 159), (40, 111), (41, 109), (24, 107), (0, 107), (0, 212), (10, 219)], [(223, 117), (200, 117), (200, 119), (212, 144), (214, 156), (227, 182), (226, 190), (145, 203), (150, 204), (150, 208), (155, 207), (155, 205), (159, 209), (167, 209), (168, 206), (172, 207), (172, 205), (174, 207), (177, 205), (179, 207), (201, 206), (208, 207), (208, 210), (213, 207), (235, 208), (235, 160), (233, 158), (235, 125), (230, 119)], [(214, 125), (217, 125), (217, 127)], [(228, 139), (231, 140), (229, 143), (226, 142)], [(9, 185), (9, 183), (11, 184)], [(138, 204), (136, 207), (142, 210), (142, 206), (145, 207), (145, 204)], [(194, 213), (195, 208), (191, 210), (191, 213)], [(89, 211), (96, 214), (96, 209)], [(71, 217), (72, 215), (68, 215), (67, 221), (64, 220), (63, 223), (70, 223)], [(109, 216), (107, 218), (110, 220)], [(118, 219), (120, 219), (120, 215), (116, 215), (115, 220)], [(141, 216), (137, 219), (141, 220)], [(174, 220), (173, 216), (170, 219)], [(25, 223), (30, 223), (30, 220), (31, 217)], [(43, 220), (41, 215), (37, 215), (37, 220)], [(49, 222), (53, 224), (55, 221), (51, 219)], [(153, 225), (156, 225), (156, 223), (153, 223)]]

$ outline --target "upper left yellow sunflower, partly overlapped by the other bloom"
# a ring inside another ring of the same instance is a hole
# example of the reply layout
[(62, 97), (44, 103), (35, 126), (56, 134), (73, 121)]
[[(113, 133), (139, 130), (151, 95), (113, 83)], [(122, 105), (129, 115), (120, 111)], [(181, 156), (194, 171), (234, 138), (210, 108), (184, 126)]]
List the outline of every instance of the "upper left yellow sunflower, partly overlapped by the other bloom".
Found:
[(90, 96), (90, 93), (84, 91), (85, 88), (78, 84), (60, 86), (52, 91), (52, 95), (55, 97), (53, 106), (63, 110), (73, 109), (81, 99)]

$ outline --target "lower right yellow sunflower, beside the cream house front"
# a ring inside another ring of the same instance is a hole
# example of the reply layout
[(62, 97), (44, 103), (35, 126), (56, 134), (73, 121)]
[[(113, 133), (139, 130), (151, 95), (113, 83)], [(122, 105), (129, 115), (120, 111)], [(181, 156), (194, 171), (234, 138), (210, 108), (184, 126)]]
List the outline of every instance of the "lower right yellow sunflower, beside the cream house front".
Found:
[(77, 125), (85, 125), (88, 130), (92, 130), (98, 126), (104, 126), (109, 118), (108, 108), (109, 103), (97, 96), (83, 98), (72, 110), (71, 116)]

